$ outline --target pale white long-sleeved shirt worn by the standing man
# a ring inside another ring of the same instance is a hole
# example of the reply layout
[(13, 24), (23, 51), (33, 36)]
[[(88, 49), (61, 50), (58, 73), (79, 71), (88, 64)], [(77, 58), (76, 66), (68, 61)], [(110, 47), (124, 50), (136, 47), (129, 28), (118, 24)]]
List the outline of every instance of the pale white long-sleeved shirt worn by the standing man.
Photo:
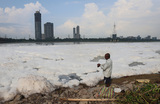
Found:
[(106, 63), (100, 65), (101, 69), (103, 70), (103, 75), (105, 77), (111, 77), (112, 74), (112, 60), (106, 60)]

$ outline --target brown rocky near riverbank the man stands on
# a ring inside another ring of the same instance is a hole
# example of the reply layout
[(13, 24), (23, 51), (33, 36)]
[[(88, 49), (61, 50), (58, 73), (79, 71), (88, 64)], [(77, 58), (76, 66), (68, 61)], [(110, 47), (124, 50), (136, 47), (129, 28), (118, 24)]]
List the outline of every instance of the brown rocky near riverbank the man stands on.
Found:
[[(150, 83), (156, 83), (160, 86), (160, 73), (157, 74), (142, 74), (133, 76), (124, 76), (121, 78), (113, 78), (111, 86), (121, 88), (122, 91), (132, 89), (136, 83), (136, 79), (149, 79)], [(104, 86), (103, 81), (100, 81), (96, 86), (89, 87), (80, 84), (74, 88), (59, 88), (48, 94), (32, 94), (25, 98), (18, 94), (14, 99), (6, 101), (2, 104), (86, 104), (87, 102), (67, 102), (60, 98), (80, 98), (80, 99), (96, 99), (100, 89)], [(102, 104), (106, 102), (101, 102)], [(90, 104), (97, 104), (92, 102)]]

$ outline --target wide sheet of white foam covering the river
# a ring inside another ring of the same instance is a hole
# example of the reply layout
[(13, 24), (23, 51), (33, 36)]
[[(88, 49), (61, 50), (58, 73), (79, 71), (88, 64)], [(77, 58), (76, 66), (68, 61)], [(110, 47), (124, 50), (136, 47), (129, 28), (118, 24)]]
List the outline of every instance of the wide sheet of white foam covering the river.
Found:
[[(94, 86), (103, 79), (102, 70), (91, 61), (111, 54), (112, 77), (156, 73), (160, 71), (159, 42), (93, 43), (69, 45), (2, 44), (0, 45), (0, 98), (12, 99), (17, 93), (28, 96), (47, 93), (58, 87), (79, 83)], [(133, 62), (144, 65), (130, 67)], [(99, 72), (97, 71), (99, 70)], [(60, 75), (76, 73), (82, 80), (59, 81)]]

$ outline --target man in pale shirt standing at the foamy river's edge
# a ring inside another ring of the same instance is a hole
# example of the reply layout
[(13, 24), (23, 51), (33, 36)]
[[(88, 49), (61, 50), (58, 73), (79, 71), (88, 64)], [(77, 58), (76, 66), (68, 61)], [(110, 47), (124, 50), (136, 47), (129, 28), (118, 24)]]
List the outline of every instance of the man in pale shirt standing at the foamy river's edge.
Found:
[(112, 60), (110, 59), (110, 54), (105, 54), (106, 63), (97, 64), (97, 67), (101, 67), (104, 75), (104, 83), (106, 87), (110, 86), (111, 83), (111, 73), (112, 73)]

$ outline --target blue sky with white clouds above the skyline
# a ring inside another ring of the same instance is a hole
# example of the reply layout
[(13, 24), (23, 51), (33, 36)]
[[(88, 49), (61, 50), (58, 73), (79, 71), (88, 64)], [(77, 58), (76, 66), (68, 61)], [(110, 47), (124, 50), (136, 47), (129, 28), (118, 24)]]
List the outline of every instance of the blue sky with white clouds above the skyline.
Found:
[(77, 25), (82, 38), (106, 38), (115, 23), (117, 36), (160, 39), (160, 0), (0, 0), (0, 37), (34, 39), (37, 10), (55, 38), (72, 38)]

